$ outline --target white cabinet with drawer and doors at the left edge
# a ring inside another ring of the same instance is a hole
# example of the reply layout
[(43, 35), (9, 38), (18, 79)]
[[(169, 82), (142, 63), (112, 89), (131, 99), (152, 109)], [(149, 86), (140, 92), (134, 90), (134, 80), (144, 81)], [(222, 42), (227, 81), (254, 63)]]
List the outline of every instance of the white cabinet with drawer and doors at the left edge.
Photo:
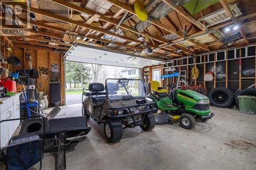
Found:
[[(0, 120), (19, 118), (19, 94), (0, 99)], [(19, 120), (3, 122), (0, 125), (0, 148), (4, 147), (19, 125)]]

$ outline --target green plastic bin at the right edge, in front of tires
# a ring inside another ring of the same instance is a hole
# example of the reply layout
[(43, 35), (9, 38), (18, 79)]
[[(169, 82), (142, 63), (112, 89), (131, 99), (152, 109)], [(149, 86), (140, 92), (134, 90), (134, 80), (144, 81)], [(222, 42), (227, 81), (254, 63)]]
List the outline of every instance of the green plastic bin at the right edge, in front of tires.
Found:
[(256, 114), (256, 96), (239, 95), (239, 111), (245, 114)]

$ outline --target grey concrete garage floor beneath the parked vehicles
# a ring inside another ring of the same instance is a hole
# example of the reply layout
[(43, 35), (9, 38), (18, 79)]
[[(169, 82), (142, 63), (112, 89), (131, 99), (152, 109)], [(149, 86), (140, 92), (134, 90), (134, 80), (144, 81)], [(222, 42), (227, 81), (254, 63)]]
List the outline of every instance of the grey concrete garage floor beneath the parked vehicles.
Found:
[[(157, 125), (150, 132), (124, 129), (120, 142), (110, 144), (92, 118), (92, 128), (67, 152), (67, 169), (256, 169), (256, 148), (231, 149), (224, 143), (242, 140), (256, 144), (256, 115), (237, 109), (210, 108), (215, 116), (193, 130)], [(47, 110), (50, 111), (50, 110)], [(62, 115), (65, 114), (65, 115)], [(77, 116), (81, 104), (62, 106), (59, 115)], [(54, 157), (45, 154), (42, 169), (54, 169)]]

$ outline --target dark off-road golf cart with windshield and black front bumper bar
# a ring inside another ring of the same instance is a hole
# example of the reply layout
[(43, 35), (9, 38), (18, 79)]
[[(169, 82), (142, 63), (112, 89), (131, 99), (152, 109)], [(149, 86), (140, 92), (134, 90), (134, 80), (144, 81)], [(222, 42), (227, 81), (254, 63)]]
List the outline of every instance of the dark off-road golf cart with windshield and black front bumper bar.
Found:
[(152, 106), (153, 102), (145, 99), (143, 80), (106, 79), (105, 88), (102, 83), (90, 83), (88, 90), (82, 92), (82, 115), (92, 117), (99, 125), (104, 123), (108, 141), (119, 141), (124, 128), (140, 126), (150, 131), (155, 127), (153, 112), (157, 109)]

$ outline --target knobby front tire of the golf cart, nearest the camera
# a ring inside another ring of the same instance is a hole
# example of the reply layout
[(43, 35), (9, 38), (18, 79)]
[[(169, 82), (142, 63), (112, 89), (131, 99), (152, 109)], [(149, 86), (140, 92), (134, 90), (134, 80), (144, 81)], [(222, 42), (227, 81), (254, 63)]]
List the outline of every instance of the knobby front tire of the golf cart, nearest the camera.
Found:
[(119, 119), (108, 118), (104, 122), (104, 134), (106, 140), (111, 143), (121, 140), (123, 137), (123, 127)]

